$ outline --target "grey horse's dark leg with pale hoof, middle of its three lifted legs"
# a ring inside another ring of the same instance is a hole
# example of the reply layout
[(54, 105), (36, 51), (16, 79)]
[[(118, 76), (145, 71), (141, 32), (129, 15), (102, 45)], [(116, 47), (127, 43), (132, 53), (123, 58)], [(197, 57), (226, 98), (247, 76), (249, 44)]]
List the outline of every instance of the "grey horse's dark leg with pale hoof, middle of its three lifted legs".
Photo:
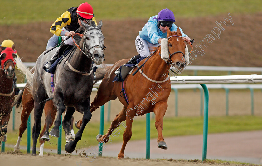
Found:
[(74, 112), (75, 112), (74, 107), (67, 107), (65, 117), (64, 117), (64, 120), (62, 122), (64, 131), (65, 131), (66, 143), (69, 142), (70, 140), (74, 140), (74, 137), (71, 134), (71, 130), (70, 130), (71, 120), (72, 120), (72, 116), (73, 116)]

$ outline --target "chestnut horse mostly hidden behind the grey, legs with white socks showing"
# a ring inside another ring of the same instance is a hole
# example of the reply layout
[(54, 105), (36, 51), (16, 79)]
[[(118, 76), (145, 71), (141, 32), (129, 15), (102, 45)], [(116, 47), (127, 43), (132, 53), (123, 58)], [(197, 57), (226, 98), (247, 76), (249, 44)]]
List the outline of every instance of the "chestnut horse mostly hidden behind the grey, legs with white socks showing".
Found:
[[(35, 67), (33, 67), (30, 71), (34, 72), (34, 68)], [(23, 133), (27, 129), (28, 117), (34, 108), (33, 95), (32, 95), (32, 92), (30, 92), (30, 90), (28, 89), (28, 84), (26, 84), (25, 88), (23, 88), (22, 91), (18, 94), (13, 105), (15, 105), (16, 108), (18, 108), (21, 106), (21, 103), (23, 107), (22, 112), (21, 112), (21, 124), (19, 127), (19, 136), (17, 139), (17, 143), (14, 146), (14, 152), (19, 151), (20, 149), (20, 141), (21, 141)], [(50, 141), (48, 130), (52, 126), (55, 120), (55, 116), (56, 116), (56, 108), (52, 100), (49, 100), (46, 102), (44, 110), (45, 110), (46, 119), (45, 119), (44, 128), (42, 132), (40, 133), (40, 137), (39, 137), (39, 143), (40, 143), (39, 156), (43, 155), (43, 148), (44, 148), (45, 141)], [(72, 136), (75, 137), (74, 130), (73, 130), (73, 120), (74, 120), (74, 117), (72, 116), (70, 130), (71, 130)], [(66, 138), (66, 140), (68, 141), (68, 138)]]

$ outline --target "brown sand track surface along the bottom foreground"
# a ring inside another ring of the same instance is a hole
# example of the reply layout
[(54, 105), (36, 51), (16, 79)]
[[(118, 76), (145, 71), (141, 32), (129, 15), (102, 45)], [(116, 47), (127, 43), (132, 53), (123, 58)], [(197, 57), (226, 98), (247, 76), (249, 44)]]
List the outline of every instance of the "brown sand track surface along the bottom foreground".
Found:
[[(195, 161), (177, 161), (177, 160), (146, 160), (146, 159), (121, 159), (118, 160), (112, 157), (98, 157), (95, 160), (89, 160), (87, 158), (80, 158), (78, 156), (64, 156), (64, 155), (56, 155), (56, 156), (31, 156), (29, 154), (0, 154), (0, 161), (1, 165), (26, 165), (26, 166), (46, 166), (46, 165), (71, 165), (71, 166), (129, 166), (129, 165), (136, 165), (136, 166), (207, 166), (207, 165), (236, 165), (230, 164), (228, 162), (221, 163), (221, 164), (211, 164), (211, 163), (201, 163), (199, 160)], [(241, 164), (245, 165), (245, 164)]]

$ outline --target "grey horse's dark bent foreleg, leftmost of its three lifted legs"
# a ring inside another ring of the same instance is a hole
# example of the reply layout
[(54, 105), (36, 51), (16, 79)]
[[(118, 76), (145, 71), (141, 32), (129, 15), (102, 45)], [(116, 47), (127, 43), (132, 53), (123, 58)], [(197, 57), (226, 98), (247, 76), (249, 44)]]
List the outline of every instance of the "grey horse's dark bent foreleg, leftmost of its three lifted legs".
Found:
[(49, 135), (57, 138), (59, 137), (59, 126), (61, 125), (61, 116), (64, 112), (65, 112), (65, 104), (63, 103), (63, 100), (60, 98), (57, 104), (57, 117), (55, 120), (55, 126), (49, 132)]

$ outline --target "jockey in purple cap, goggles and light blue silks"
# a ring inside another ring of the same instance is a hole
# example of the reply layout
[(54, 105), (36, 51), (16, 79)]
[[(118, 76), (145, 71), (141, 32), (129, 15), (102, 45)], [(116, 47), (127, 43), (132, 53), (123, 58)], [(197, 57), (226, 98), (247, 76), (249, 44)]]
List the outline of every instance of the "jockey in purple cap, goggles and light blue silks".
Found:
[[(126, 64), (135, 64), (137, 59), (149, 56), (149, 48), (158, 47), (162, 38), (167, 38), (168, 27), (170, 31), (177, 30), (177, 26), (174, 24), (174, 22), (174, 13), (169, 9), (163, 9), (158, 13), (158, 15), (150, 17), (142, 30), (139, 31), (139, 35), (135, 40), (138, 55), (131, 58)], [(187, 44), (189, 44), (191, 40), (190, 37), (184, 34), (181, 28), (179, 29), (182, 33), (182, 37), (184, 37)], [(118, 75), (119, 73), (120, 69), (117, 69), (115, 74)]]

